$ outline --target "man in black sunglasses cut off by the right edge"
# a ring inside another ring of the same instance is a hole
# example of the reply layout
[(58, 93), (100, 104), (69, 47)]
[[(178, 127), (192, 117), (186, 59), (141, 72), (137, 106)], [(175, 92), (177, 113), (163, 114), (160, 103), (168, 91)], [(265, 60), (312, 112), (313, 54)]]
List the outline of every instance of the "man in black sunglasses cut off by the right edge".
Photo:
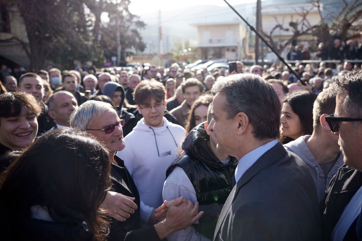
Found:
[(332, 178), (323, 211), (325, 240), (361, 240), (362, 230), (362, 71), (337, 80), (333, 115), (325, 119), (344, 155)]

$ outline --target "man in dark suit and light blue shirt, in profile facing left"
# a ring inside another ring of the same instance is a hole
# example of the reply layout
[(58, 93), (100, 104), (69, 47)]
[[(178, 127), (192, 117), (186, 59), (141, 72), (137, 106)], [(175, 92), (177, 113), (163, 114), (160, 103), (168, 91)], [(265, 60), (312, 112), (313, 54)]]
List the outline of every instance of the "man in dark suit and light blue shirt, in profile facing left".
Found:
[(273, 87), (258, 75), (235, 74), (211, 92), (211, 136), (217, 149), (239, 160), (214, 240), (320, 240), (312, 176), (277, 141), (281, 105)]

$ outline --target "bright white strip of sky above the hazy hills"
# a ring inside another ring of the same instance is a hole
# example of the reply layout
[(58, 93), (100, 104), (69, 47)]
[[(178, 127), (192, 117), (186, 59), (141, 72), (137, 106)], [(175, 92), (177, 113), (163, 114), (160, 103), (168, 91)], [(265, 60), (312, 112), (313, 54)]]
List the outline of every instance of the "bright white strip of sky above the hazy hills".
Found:
[[(233, 6), (256, 0), (227, 0)], [(129, 10), (132, 14), (140, 15), (154, 11), (170, 11), (198, 5), (227, 6), (223, 0), (131, 0)]]

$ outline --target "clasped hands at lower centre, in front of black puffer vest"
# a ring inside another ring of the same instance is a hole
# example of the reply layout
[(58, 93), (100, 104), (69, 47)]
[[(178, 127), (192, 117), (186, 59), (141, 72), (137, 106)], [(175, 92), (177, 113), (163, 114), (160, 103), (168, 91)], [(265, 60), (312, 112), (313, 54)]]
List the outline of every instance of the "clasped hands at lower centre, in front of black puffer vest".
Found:
[(163, 204), (168, 208), (166, 218), (154, 225), (158, 236), (162, 239), (174, 231), (184, 229), (204, 214), (199, 213), (199, 203), (195, 205), (190, 200), (185, 200), (183, 196), (171, 201), (164, 201)]

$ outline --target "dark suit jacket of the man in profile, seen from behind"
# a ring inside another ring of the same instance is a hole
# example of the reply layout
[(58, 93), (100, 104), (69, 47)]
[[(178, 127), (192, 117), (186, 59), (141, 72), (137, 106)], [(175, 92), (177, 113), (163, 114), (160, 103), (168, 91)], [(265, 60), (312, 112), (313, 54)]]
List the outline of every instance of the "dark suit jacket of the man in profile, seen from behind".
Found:
[(321, 240), (321, 231), (312, 176), (299, 157), (278, 143), (234, 186), (214, 240)]

